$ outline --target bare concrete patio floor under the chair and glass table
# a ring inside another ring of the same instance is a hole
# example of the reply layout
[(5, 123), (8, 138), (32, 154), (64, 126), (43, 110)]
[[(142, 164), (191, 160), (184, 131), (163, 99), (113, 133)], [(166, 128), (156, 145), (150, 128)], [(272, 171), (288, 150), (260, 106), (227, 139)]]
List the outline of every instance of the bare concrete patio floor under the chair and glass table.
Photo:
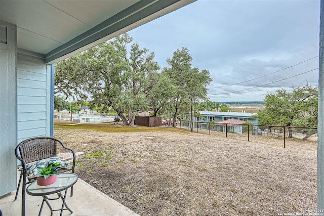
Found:
[[(64, 191), (62, 193), (64, 195)], [(4, 216), (21, 215), (21, 190), (19, 190), (16, 201), (14, 201), (15, 195), (16, 193), (13, 192), (0, 199), (0, 209)], [(49, 197), (55, 198), (55, 195)], [(26, 215), (38, 215), (42, 200), (42, 196), (30, 196), (26, 193)], [(61, 199), (50, 200), (49, 202), (53, 209), (60, 209), (62, 206)], [(78, 179), (73, 186), (72, 197), (70, 196), (70, 189), (68, 189), (66, 204), (73, 213), (70, 213), (68, 210), (63, 210), (63, 215), (138, 215), (81, 179)], [(44, 204), (42, 215), (51, 215), (51, 211), (46, 203)], [(60, 215), (60, 211), (53, 211), (53, 215)]]

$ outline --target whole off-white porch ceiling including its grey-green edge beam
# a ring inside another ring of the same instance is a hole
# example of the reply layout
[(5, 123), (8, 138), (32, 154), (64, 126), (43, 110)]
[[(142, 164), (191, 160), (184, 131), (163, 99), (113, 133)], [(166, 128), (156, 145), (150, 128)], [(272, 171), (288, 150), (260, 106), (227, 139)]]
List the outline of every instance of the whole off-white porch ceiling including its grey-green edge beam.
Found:
[(17, 25), (18, 53), (52, 64), (195, 0), (0, 0), (0, 20)]

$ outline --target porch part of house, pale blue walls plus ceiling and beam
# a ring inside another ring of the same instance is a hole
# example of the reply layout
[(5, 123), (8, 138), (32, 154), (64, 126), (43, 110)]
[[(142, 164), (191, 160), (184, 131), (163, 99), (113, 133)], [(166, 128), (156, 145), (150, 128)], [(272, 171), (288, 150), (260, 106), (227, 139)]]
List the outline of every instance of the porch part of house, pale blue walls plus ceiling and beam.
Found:
[(53, 137), (54, 63), (192, 2), (0, 1), (0, 197), (17, 187), (17, 144)]

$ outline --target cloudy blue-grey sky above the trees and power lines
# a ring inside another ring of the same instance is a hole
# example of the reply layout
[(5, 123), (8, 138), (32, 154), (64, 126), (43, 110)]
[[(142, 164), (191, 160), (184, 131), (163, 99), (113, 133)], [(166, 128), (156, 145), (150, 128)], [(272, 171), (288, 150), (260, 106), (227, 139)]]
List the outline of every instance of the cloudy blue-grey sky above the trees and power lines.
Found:
[(319, 1), (198, 0), (128, 33), (161, 67), (187, 47), (192, 66), (211, 73), (211, 101), (263, 101), (279, 88), (317, 85), (319, 8)]

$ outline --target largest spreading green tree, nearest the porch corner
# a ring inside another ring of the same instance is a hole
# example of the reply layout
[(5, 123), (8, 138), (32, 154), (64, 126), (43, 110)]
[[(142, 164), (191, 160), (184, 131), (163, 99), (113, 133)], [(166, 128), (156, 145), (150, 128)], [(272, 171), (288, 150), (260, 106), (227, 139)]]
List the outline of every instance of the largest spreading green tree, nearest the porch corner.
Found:
[(123, 34), (58, 64), (59, 74), (70, 75), (64, 80), (56, 77), (57, 90), (64, 86), (69, 89), (64, 93), (77, 99), (90, 95), (93, 108), (107, 111), (111, 107), (124, 125), (134, 125), (135, 116), (149, 108), (148, 95), (159, 66), (154, 53), (137, 43), (130, 45), (132, 41)]

